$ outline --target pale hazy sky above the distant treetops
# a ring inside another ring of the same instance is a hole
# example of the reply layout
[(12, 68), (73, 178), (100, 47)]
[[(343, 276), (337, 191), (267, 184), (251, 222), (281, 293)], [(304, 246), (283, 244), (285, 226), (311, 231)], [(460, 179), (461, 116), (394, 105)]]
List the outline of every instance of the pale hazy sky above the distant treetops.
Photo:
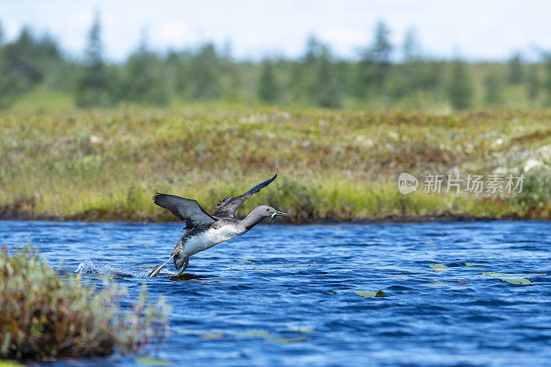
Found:
[(518, 50), (535, 59), (551, 50), (551, 1), (541, 0), (0, 0), (5, 39), (28, 25), (54, 36), (74, 57), (83, 54), (95, 12), (111, 61), (124, 59), (143, 34), (158, 51), (212, 41), (249, 60), (300, 56), (315, 34), (335, 56), (354, 59), (379, 20), (391, 29), (396, 55), (410, 28), (430, 56), (492, 61)]

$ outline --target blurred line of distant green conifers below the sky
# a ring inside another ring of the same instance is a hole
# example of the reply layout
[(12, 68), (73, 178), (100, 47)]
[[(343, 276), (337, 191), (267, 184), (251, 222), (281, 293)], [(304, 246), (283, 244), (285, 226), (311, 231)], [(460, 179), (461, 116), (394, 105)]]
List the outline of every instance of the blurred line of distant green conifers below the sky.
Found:
[[(315, 36), (298, 59), (236, 61), (212, 43), (194, 50), (153, 52), (147, 36), (121, 63), (105, 61), (101, 23), (96, 16), (83, 62), (61, 52), (52, 37), (23, 28), (3, 41), (0, 25), (0, 108), (10, 107), (37, 87), (74, 96), (79, 107), (119, 103), (168, 105), (173, 101), (299, 105), (326, 108), (397, 107), (454, 109), (499, 107), (526, 101), (551, 105), (551, 55), (526, 63), (514, 53), (506, 63), (467, 63), (430, 58), (409, 30), (404, 43), (390, 41), (380, 21), (375, 36), (351, 61), (338, 59)], [(402, 55), (399, 59), (396, 54)], [(399, 61), (397, 61), (399, 60)], [(514, 107), (518, 107), (514, 105)]]

